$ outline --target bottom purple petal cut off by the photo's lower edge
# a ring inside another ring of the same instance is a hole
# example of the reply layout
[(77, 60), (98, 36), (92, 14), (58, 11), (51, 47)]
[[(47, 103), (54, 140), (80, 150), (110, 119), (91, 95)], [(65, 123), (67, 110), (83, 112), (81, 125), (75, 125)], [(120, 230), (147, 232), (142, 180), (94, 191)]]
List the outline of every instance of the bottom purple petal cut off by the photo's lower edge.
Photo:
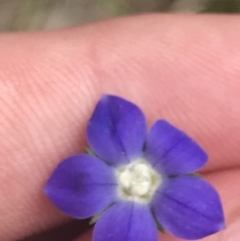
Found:
[(119, 202), (107, 209), (97, 222), (94, 241), (157, 241), (158, 231), (149, 207)]

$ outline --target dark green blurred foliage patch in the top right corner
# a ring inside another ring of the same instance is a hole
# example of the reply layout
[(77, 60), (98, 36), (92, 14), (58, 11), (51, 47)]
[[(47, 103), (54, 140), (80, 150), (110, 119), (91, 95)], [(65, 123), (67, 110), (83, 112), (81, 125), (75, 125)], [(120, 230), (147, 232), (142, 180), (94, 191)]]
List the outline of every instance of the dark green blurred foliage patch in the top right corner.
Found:
[(208, 13), (239, 13), (239, 0), (208, 0), (202, 12)]

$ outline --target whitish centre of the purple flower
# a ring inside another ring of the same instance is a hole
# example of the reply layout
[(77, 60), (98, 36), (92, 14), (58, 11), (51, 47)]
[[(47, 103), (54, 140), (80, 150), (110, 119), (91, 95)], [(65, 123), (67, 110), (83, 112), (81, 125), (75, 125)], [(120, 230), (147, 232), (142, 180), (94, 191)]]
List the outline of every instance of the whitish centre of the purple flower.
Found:
[(117, 170), (121, 198), (149, 202), (161, 182), (160, 175), (144, 160), (137, 160)]

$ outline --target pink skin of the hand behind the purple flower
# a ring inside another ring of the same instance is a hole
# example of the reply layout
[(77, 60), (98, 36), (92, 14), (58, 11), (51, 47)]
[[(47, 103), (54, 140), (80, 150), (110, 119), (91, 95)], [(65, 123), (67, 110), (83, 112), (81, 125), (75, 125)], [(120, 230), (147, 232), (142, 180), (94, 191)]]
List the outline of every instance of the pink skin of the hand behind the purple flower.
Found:
[[(2, 34), (0, 240), (69, 221), (42, 187), (63, 158), (83, 151), (102, 93), (136, 103), (149, 126), (164, 118), (198, 141), (209, 154), (202, 173), (221, 196), (227, 225), (203, 240), (238, 240), (239, 43), (238, 16), (149, 15)], [(91, 230), (76, 240), (90, 241)]]

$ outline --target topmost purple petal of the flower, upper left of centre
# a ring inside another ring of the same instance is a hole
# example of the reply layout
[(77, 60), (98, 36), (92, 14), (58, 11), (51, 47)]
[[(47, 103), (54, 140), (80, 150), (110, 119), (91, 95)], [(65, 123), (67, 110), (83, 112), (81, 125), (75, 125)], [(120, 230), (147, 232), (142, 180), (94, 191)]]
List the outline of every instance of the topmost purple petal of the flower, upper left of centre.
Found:
[(89, 121), (87, 136), (93, 151), (111, 165), (142, 154), (146, 122), (141, 110), (122, 98), (104, 95)]

